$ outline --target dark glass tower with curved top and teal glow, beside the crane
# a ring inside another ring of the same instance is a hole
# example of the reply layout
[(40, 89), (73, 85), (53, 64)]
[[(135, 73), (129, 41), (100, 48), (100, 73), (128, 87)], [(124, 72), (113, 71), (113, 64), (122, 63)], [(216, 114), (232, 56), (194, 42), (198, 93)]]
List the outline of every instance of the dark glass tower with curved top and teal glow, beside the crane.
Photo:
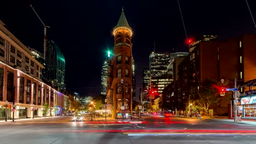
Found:
[(53, 40), (48, 40), (45, 61), (45, 81), (55, 88), (65, 89), (65, 57)]

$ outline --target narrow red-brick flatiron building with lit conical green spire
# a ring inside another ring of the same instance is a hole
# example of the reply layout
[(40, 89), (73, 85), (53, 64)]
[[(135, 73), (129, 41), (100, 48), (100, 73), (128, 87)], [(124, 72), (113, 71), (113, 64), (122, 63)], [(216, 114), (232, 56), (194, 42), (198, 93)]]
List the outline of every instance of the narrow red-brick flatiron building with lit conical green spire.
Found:
[[(117, 26), (113, 29), (114, 56), (109, 68), (107, 98), (113, 104), (113, 117), (116, 113), (128, 115), (132, 112), (133, 93), (133, 57), (132, 57), (132, 29), (129, 26), (124, 9)], [(108, 107), (110, 108), (110, 107)]]

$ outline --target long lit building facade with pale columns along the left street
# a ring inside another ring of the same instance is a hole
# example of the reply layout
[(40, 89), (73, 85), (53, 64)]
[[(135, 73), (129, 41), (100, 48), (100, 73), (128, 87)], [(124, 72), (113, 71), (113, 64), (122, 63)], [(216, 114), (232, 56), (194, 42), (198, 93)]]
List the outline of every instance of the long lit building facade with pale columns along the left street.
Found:
[(68, 108), (68, 96), (43, 82), (44, 65), (33, 56), (0, 21), (0, 119), (42, 117), (46, 103), (48, 116)]

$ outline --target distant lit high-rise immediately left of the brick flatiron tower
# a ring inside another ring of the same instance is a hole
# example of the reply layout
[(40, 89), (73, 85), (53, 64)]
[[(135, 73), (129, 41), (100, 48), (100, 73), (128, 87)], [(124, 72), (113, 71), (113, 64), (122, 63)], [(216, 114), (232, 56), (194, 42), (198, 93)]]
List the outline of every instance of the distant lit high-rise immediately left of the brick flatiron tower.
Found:
[(108, 59), (103, 62), (101, 70), (101, 94), (107, 94), (107, 79), (108, 79)]

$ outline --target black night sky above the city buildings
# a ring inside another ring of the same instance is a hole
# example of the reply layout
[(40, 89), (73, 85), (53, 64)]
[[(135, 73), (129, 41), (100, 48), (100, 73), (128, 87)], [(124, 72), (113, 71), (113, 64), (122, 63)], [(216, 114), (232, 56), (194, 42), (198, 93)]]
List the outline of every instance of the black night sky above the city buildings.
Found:
[[(256, 16), (256, 2), (247, 0)], [(67, 89), (82, 95), (100, 93), (104, 53), (113, 47), (112, 31), (121, 8), (132, 30), (137, 86), (142, 68), (149, 67), (149, 53), (188, 51), (179, 5), (188, 37), (217, 34), (220, 39), (255, 33), (246, 0), (81, 1), (44, 0), (1, 2), (0, 19), (22, 43), (43, 53), (44, 27), (66, 59)], [(174, 49), (174, 51), (173, 51)]]

